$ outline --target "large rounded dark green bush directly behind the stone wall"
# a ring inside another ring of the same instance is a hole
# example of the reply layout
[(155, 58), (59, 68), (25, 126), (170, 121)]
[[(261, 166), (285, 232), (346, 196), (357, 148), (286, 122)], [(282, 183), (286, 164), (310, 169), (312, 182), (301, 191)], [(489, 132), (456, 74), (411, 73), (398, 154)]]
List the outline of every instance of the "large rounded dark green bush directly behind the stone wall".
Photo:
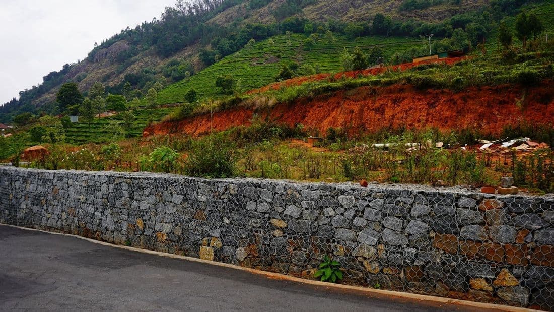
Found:
[(225, 178), (234, 175), (236, 158), (234, 142), (223, 134), (192, 141), (186, 172), (192, 176)]

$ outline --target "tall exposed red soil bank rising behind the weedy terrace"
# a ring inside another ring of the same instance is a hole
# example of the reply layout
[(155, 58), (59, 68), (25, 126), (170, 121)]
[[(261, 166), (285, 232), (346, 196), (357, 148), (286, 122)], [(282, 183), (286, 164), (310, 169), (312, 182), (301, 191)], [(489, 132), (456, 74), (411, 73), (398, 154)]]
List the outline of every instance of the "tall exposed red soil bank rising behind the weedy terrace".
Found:
[[(234, 108), (217, 112), (213, 116), (213, 129), (249, 125), (253, 114), (257, 114), (265, 120), (291, 126), (302, 124), (321, 132), (331, 126), (351, 131), (432, 126), (441, 130), (471, 128), (500, 134), (504, 126), (519, 123), (554, 126), (552, 83), (543, 81), (540, 86), (527, 90), (513, 84), (473, 87), (459, 93), (451, 90), (420, 91), (411, 85), (361, 87), (293, 104), (278, 104), (264, 111)], [(209, 131), (210, 124), (210, 116), (201, 115), (151, 125), (145, 131), (150, 134), (186, 132), (201, 135)]]

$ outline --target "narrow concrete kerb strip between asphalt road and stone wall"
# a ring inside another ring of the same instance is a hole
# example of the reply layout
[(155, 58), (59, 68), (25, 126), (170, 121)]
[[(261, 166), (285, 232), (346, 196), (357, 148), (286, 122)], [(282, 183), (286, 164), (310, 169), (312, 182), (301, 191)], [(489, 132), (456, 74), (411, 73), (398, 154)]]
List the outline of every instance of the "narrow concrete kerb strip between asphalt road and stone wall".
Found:
[(158, 255), (158, 256), (161, 256), (161, 257), (182, 259), (182, 260), (187, 260), (187, 261), (191, 261), (191, 262), (198, 262), (198, 263), (205, 263), (205, 264), (209, 264), (209, 265), (216, 265), (218, 267), (225, 267), (225, 268), (231, 268), (231, 269), (235, 269), (235, 270), (242, 270), (242, 271), (249, 272), (249, 273), (252, 273), (252, 274), (263, 275), (264, 277), (271, 278), (271, 279), (288, 280), (290, 282), (296, 282), (296, 283), (302, 283), (302, 284), (306, 284), (306, 285), (332, 288), (332, 289), (337, 289), (337, 290), (359, 291), (361, 293), (366, 293), (368, 295), (376, 295), (376, 296), (379, 296), (380, 298), (428, 301), (428, 302), (439, 303), (439, 304), (456, 305), (456, 306), (460, 306), (460, 307), (465, 306), (465, 307), (468, 307), (468, 308), (485, 309), (485, 310), (488, 310), (488, 311), (507, 311), (507, 312), (512, 312), (512, 311), (513, 312), (537, 311), (537, 310), (533, 310), (533, 309), (517, 308), (517, 307), (514, 307), (514, 306), (508, 306), (508, 305), (479, 303), (479, 302), (475, 302), (475, 301), (450, 299), (450, 298), (443, 298), (443, 297), (439, 297), (439, 296), (428, 296), (428, 295), (404, 293), (404, 292), (392, 291), (392, 290), (382, 290), (382, 289), (365, 288), (365, 287), (358, 287), (358, 286), (352, 286), (352, 285), (326, 283), (326, 282), (320, 282), (318, 280), (302, 279), (302, 278), (292, 277), (290, 275), (285, 275), (285, 274), (280, 274), (280, 273), (273, 273), (273, 272), (267, 272), (267, 271), (252, 269), (252, 268), (240, 267), (239, 265), (234, 265), (234, 264), (228, 264), (228, 263), (204, 260), (204, 259), (199, 259), (199, 258), (187, 257), (185, 255), (163, 253), (163, 252), (157, 252), (157, 251), (154, 251), (154, 250), (140, 249), (140, 248), (128, 247), (128, 246), (124, 246), (124, 245), (116, 245), (116, 244), (112, 244), (112, 243), (96, 241), (95, 239), (76, 236), (76, 235), (73, 235), (73, 234), (49, 232), (49, 231), (43, 231), (43, 230), (40, 230), (40, 229), (13, 226), (11, 224), (4, 224), (4, 223), (0, 223), (0, 225), (7, 226), (7, 227), (12, 227), (12, 228), (23, 229), (25, 231), (36, 231), (36, 232), (54, 234), (54, 235), (59, 235), (59, 236), (79, 238), (79, 239), (83, 239), (84, 241), (88, 241), (88, 242), (91, 242), (91, 243), (104, 245), (104, 246), (112, 247), (112, 248), (125, 249), (125, 250), (134, 251), (134, 252)]

